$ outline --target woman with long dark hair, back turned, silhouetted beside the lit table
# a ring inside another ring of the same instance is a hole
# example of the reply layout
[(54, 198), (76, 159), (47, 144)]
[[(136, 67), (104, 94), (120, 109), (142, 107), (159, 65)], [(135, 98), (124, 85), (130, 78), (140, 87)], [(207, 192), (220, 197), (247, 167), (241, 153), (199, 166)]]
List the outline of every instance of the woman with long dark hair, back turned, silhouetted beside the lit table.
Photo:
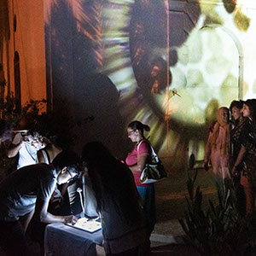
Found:
[(102, 217), (106, 255), (138, 255), (145, 243), (145, 229), (131, 171), (98, 142), (84, 146), (82, 159)]

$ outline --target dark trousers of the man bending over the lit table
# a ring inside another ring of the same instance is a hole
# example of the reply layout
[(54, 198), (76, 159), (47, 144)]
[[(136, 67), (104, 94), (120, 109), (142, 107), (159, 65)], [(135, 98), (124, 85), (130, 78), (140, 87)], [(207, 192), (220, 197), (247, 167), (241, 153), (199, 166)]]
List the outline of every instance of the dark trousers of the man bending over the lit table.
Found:
[(9, 256), (30, 256), (25, 231), (20, 221), (0, 221), (0, 247)]

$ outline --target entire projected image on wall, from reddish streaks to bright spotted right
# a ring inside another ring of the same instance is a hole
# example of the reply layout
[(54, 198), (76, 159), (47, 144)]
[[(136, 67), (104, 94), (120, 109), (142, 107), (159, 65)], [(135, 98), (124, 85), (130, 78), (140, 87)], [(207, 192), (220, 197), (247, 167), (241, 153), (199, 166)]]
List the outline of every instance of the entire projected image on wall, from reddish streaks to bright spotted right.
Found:
[[(182, 159), (189, 148), (202, 159), (207, 124), (217, 109), (239, 97), (253, 97), (247, 84), (256, 83), (241, 81), (242, 58), (247, 50), (256, 52), (253, 44), (242, 49), (240, 42), (253, 36), (253, 26), (242, 1), (177, 2), (49, 1), (46, 27), (51, 41), (56, 40), (51, 54), (57, 55), (61, 77), (67, 76), (65, 64), (73, 58), (79, 108), (94, 106), (92, 115), (101, 113), (102, 119), (115, 113), (122, 124), (139, 119), (151, 127), (150, 140), (161, 155)], [(73, 24), (73, 56), (57, 46), (64, 38), (58, 9), (62, 15), (67, 9)], [(247, 72), (253, 73), (251, 68)], [(115, 106), (108, 113), (106, 102)]]

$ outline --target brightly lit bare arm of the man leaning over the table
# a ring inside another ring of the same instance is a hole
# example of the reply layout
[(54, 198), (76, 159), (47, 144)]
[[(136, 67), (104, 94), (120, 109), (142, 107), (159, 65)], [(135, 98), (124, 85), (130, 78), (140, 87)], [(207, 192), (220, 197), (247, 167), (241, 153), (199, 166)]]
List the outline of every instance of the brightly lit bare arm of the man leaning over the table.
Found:
[(73, 215), (56, 216), (50, 214), (49, 212), (47, 212), (48, 204), (49, 199), (47, 201), (44, 201), (40, 198), (37, 199), (34, 215), (35, 218), (38, 219), (38, 221), (48, 224), (56, 222), (75, 224), (77, 222), (78, 218)]

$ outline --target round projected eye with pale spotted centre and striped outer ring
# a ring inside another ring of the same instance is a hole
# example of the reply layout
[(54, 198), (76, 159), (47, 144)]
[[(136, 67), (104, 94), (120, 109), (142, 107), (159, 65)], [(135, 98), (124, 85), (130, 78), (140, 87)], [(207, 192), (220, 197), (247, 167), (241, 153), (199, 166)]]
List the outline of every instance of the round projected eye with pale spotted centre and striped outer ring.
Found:
[[(123, 106), (132, 109), (133, 119), (158, 124), (155, 133), (161, 133), (164, 148), (176, 148), (177, 137), (185, 134), (187, 144), (197, 140), (195, 148), (202, 149), (206, 124), (239, 97), (239, 49), (221, 28), (223, 14), (213, 20), (212, 12), (218, 9), (203, 9), (201, 3), (143, 0), (113, 1), (104, 10), (109, 26), (103, 68), (121, 100), (135, 98), (137, 108)], [(216, 26), (208, 26), (217, 18)]]

